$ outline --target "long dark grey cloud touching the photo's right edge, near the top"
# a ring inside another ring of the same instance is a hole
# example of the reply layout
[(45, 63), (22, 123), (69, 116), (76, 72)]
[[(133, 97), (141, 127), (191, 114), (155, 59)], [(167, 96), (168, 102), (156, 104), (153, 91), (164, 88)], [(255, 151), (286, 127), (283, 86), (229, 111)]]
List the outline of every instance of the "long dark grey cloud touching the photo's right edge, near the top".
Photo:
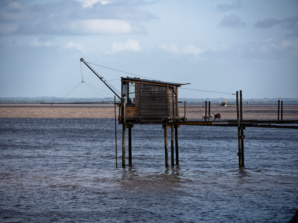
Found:
[(284, 18), (283, 20), (277, 20), (273, 18), (268, 18), (262, 21), (257, 21), (254, 26), (258, 28), (268, 29), (273, 26), (279, 25), (285, 29), (297, 29), (298, 28), (298, 17), (291, 16), (288, 18)]

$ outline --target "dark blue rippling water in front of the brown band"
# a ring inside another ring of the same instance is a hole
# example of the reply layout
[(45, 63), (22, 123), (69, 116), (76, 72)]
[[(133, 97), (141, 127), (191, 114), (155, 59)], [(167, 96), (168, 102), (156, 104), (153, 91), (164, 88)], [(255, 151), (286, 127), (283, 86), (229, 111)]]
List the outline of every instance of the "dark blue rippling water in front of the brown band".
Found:
[(295, 129), (246, 128), (239, 169), (236, 128), (181, 126), (165, 168), (162, 127), (135, 125), (122, 168), (117, 124), (116, 168), (107, 121), (0, 118), (0, 222), (288, 222), (298, 208)]

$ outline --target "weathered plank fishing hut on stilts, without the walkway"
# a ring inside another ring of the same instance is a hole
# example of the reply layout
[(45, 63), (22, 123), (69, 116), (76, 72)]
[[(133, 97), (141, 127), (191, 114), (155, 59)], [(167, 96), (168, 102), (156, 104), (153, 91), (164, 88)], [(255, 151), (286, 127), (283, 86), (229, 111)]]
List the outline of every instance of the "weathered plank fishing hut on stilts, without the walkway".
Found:
[(167, 128), (171, 129), (171, 165), (174, 165), (174, 129), (176, 164), (179, 164), (178, 87), (183, 84), (121, 77), (122, 167), (125, 167), (125, 130), (128, 129), (128, 164), (132, 165), (131, 128), (134, 125), (162, 125), (164, 128), (165, 166), (169, 166)]

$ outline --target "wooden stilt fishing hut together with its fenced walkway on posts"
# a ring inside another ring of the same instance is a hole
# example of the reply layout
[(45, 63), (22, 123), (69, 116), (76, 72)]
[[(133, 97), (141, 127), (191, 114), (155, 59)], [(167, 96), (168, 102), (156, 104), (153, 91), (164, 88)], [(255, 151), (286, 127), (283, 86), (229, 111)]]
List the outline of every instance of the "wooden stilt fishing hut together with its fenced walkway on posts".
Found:
[[(278, 101), (272, 106), (274, 111), (266, 112), (269, 119), (258, 120), (253, 119), (250, 116), (249, 119), (244, 119), (243, 114), (254, 113), (257, 115), (259, 112), (256, 110), (247, 109), (247, 104), (243, 110), (242, 103), (242, 91), (240, 90), (240, 101), (238, 91), (236, 92), (236, 103), (229, 107), (228, 103), (221, 103), (224, 105), (221, 109), (225, 109), (221, 114), (221, 120), (210, 119), (207, 120), (207, 115), (210, 114), (210, 102), (201, 104), (199, 108), (189, 109), (184, 102), (183, 106), (178, 105), (178, 87), (182, 84), (162, 82), (162, 81), (150, 81), (139, 78), (121, 78), (121, 103), (119, 104), (119, 124), (122, 124), (122, 167), (125, 167), (125, 134), (128, 129), (128, 160), (129, 165), (132, 165), (132, 141), (131, 141), (131, 128), (134, 125), (162, 125), (164, 129), (164, 157), (165, 166), (169, 166), (168, 158), (168, 139), (167, 129), (171, 130), (171, 166), (179, 164), (179, 149), (178, 149), (178, 127), (180, 125), (197, 125), (197, 126), (230, 126), (237, 127), (238, 129), (238, 162), (239, 168), (244, 167), (244, 130), (246, 127), (259, 127), (259, 128), (294, 128), (297, 129), (298, 118), (298, 103), (294, 106), (290, 106), (294, 118), (283, 120), (283, 101)], [(208, 104), (208, 106), (207, 106)], [(217, 107), (216, 107), (217, 106)], [(220, 108), (217, 104), (211, 106), (213, 110)], [(207, 109), (208, 108), (208, 109)], [(262, 107), (264, 110), (264, 108)], [(262, 110), (259, 109), (259, 110)], [(281, 109), (281, 110), (280, 110)], [(179, 114), (183, 114), (181, 116)], [(193, 117), (190, 111), (194, 114), (205, 116), (204, 120), (199, 120), (198, 117)], [(245, 112), (243, 112), (245, 111)], [(281, 112), (280, 112), (281, 111)], [(226, 113), (225, 113), (226, 112)], [(277, 113), (277, 119), (270, 119)], [(212, 112), (214, 115), (214, 113)], [(223, 114), (225, 114), (223, 117)], [(269, 115), (268, 115), (269, 114)], [(272, 115), (274, 114), (274, 115)], [(189, 118), (187, 117), (189, 116)], [(266, 117), (267, 117), (266, 116)], [(227, 118), (228, 117), (228, 118)], [(235, 117), (234, 119), (230, 117)], [(295, 118), (296, 117), (296, 118)], [(263, 118), (263, 117), (262, 117)], [(261, 118), (261, 119), (262, 119)], [(263, 118), (264, 119), (264, 118)], [(287, 125), (282, 125), (287, 124)], [(174, 148), (175, 145), (175, 148)], [(176, 163), (175, 163), (176, 158)]]

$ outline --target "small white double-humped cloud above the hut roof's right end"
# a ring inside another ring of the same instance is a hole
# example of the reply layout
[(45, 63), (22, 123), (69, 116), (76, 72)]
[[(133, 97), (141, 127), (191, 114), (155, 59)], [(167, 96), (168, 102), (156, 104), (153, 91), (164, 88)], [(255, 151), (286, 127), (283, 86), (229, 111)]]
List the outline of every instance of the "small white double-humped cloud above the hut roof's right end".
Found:
[(204, 50), (192, 44), (188, 44), (187, 46), (184, 46), (181, 49), (179, 49), (173, 43), (163, 43), (163, 44), (159, 44), (159, 49), (166, 50), (170, 53), (175, 53), (175, 54), (193, 54), (195, 56), (198, 56), (199, 54), (204, 52)]

